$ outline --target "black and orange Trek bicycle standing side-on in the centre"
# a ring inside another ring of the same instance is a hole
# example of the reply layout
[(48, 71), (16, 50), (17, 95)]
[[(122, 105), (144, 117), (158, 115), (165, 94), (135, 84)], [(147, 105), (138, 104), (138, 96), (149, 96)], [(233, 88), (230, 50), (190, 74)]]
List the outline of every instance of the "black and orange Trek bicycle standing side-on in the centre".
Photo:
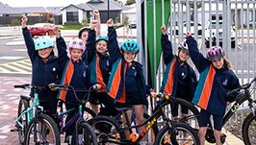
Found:
[[(145, 120), (142, 125), (134, 125), (132, 126), (129, 122), (127, 122), (127, 127), (124, 125), (120, 125), (116, 122), (115, 118), (108, 116), (96, 116), (89, 120), (90, 125), (94, 128), (95, 133), (97, 134), (99, 144), (132, 144), (139, 145), (141, 139), (145, 136), (148, 131), (157, 125), (157, 121), (160, 117), (163, 118), (166, 126), (156, 134), (155, 145), (159, 144), (182, 144), (182, 142), (190, 142), (192, 144), (198, 145), (199, 138), (197, 133), (192, 130), (192, 127), (183, 123), (183, 122), (173, 122), (169, 118), (166, 117), (165, 112), (163, 111), (163, 105), (166, 102), (172, 104), (172, 99), (170, 96), (158, 95), (160, 98), (157, 101), (157, 106), (153, 110), (151, 116)], [(122, 108), (119, 111), (123, 112), (125, 118), (128, 118), (126, 115), (126, 111), (130, 108)], [(141, 126), (145, 126), (143, 132), (139, 135), (133, 133), (133, 129), (139, 128)], [(125, 132), (128, 131), (130, 133), (130, 138), (125, 137)], [(184, 134), (186, 133), (186, 138)], [(175, 135), (173, 135), (175, 134)], [(173, 137), (174, 136), (174, 137)]]

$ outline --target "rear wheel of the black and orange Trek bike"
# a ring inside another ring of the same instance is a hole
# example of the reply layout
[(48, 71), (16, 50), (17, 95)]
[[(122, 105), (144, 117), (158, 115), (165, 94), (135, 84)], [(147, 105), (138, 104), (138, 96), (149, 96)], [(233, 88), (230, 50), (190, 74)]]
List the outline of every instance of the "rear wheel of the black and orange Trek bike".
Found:
[(112, 117), (99, 115), (91, 118), (88, 123), (101, 145), (125, 140), (125, 133), (120, 131), (120, 125)]

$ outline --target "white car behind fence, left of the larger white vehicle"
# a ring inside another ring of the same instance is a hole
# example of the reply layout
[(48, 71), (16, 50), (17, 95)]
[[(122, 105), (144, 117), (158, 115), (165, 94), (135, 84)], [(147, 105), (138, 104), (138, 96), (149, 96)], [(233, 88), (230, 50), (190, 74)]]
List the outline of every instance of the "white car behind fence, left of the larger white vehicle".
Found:
[[(188, 22), (185, 21), (185, 22), (182, 23), (181, 27), (182, 27), (182, 30), (183, 30), (183, 34), (186, 34), (186, 32), (190, 31), (192, 33), (192, 35), (194, 35), (195, 25), (197, 25), (197, 35), (201, 36), (202, 35), (202, 29), (203, 29), (202, 24), (200, 24), (200, 23), (195, 23), (194, 24), (193, 21), (190, 21), (190, 28), (188, 28)], [(169, 34), (172, 33), (172, 35), (174, 35), (174, 34), (179, 35), (179, 26), (176, 25), (174, 27), (174, 29), (171, 29), (168, 32), (169, 32)]]

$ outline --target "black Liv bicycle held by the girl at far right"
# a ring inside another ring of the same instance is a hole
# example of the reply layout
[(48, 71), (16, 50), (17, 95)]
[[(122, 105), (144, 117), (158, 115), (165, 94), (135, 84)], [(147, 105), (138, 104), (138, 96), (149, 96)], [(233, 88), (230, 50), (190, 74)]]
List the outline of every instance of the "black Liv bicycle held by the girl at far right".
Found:
[[(231, 90), (227, 93), (227, 96), (235, 94), (236, 99), (231, 104), (230, 109), (225, 113), (225, 115), (223, 117), (223, 123), (222, 123), (222, 127), (223, 127), (228, 122), (228, 120), (231, 118), (231, 116), (239, 109), (239, 107), (245, 101), (248, 101), (248, 107), (251, 110), (251, 112), (249, 114), (247, 114), (247, 116), (244, 118), (243, 126), (242, 126), (243, 142), (246, 145), (256, 143), (255, 138), (254, 139), (251, 138), (253, 140), (250, 140), (250, 137), (249, 137), (250, 134), (255, 133), (255, 127), (256, 127), (256, 114), (255, 114), (256, 113), (256, 100), (252, 99), (252, 94), (255, 92), (255, 87), (256, 87), (255, 83), (256, 83), (256, 77), (254, 77), (254, 79), (251, 82), (249, 82), (245, 85), (241, 85), (239, 88)], [(253, 85), (253, 84), (254, 84), (254, 86), (252, 88), (250, 88), (251, 85)], [(189, 103), (189, 104), (191, 104), (190, 109), (196, 109), (192, 105), (192, 103)], [(198, 123), (198, 117), (199, 117), (199, 112), (193, 111), (192, 114), (190, 115), (190, 117), (181, 119), (180, 121), (192, 121), (192, 122)], [(194, 130), (198, 131), (197, 128), (194, 128)], [(224, 133), (222, 133), (221, 137), (220, 137), (221, 143), (225, 142), (225, 137), (226, 137), (226, 135)], [(205, 139), (209, 143), (216, 142), (213, 126), (211, 123), (209, 124), (209, 126), (207, 128)]]

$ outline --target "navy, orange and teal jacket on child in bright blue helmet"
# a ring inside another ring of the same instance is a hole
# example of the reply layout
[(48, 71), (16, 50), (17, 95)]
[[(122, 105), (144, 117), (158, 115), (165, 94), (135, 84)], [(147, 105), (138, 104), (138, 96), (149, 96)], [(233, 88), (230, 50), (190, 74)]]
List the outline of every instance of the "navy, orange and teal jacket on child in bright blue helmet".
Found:
[(126, 107), (132, 105), (147, 106), (146, 94), (149, 93), (149, 87), (145, 84), (142, 64), (138, 61), (133, 61), (131, 65), (128, 64), (119, 50), (115, 29), (110, 28), (109, 34), (109, 37), (115, 37), (115, 45), (109, 48), (113, 65), (107, 85), (108, 94), (119, 105)]

